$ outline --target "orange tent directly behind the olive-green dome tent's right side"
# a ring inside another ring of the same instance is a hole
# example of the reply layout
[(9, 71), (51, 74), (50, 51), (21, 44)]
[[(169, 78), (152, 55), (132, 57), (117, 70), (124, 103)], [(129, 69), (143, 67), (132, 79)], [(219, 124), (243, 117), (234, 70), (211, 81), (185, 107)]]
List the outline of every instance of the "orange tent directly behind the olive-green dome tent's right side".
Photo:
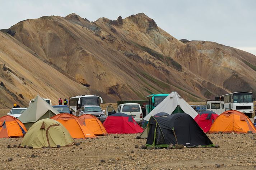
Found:
[(95, 137), (93, 132), (91, 132), (85, 125), (82, 125), (82, 120), (76, 116), (61, 113), (52, 116), (51, 119), (57, 120), (64, 125), (73, 138)]

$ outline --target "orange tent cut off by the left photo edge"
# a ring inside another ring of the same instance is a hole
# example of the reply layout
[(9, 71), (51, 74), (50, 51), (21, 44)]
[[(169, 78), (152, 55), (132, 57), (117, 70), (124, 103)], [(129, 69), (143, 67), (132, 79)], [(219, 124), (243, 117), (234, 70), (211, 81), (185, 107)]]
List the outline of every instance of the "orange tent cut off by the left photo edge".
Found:
[(23, 137), (27, 129), (21, 121), (13, 116), (3, 116), (0, 118), (0, 138)]

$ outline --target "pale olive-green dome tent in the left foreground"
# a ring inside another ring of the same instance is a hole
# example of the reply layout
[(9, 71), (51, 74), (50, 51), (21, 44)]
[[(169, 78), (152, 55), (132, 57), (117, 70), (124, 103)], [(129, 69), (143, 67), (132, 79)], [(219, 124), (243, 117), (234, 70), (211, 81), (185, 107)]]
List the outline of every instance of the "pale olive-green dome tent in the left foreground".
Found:
[(27, 131), (20, 146), (33, 148), (73, 145), (71, 135), (60, 122), (53, 119), (42, 119), (34, 123)]

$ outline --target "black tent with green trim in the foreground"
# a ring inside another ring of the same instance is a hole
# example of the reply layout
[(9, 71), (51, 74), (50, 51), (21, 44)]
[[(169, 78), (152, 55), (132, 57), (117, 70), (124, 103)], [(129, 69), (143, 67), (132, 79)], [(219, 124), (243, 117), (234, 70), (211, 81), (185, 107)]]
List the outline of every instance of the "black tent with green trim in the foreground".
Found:
[(201, 127), (186, 113), (176, 113), (167, 117), (152, 116), (148, 128), (147, 146), (168, 147), (169, 144), (214, 146)]

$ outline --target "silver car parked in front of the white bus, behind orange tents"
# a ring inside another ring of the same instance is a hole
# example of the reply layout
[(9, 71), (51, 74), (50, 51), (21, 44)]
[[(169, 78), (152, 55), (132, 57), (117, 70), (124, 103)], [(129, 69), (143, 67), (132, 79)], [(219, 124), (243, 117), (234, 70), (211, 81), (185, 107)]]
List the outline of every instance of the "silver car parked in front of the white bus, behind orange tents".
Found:
[(81, 107), (79, 116), (84, 115), (84, 114), (91, 114), (91, 115), (97, 117), (101, 122), (104, 122), (107, 119), (107, 116), (104, 112), (105, 112), (105, 110), (102, 111), (100, 106), (88, 105), (88, 106)]

